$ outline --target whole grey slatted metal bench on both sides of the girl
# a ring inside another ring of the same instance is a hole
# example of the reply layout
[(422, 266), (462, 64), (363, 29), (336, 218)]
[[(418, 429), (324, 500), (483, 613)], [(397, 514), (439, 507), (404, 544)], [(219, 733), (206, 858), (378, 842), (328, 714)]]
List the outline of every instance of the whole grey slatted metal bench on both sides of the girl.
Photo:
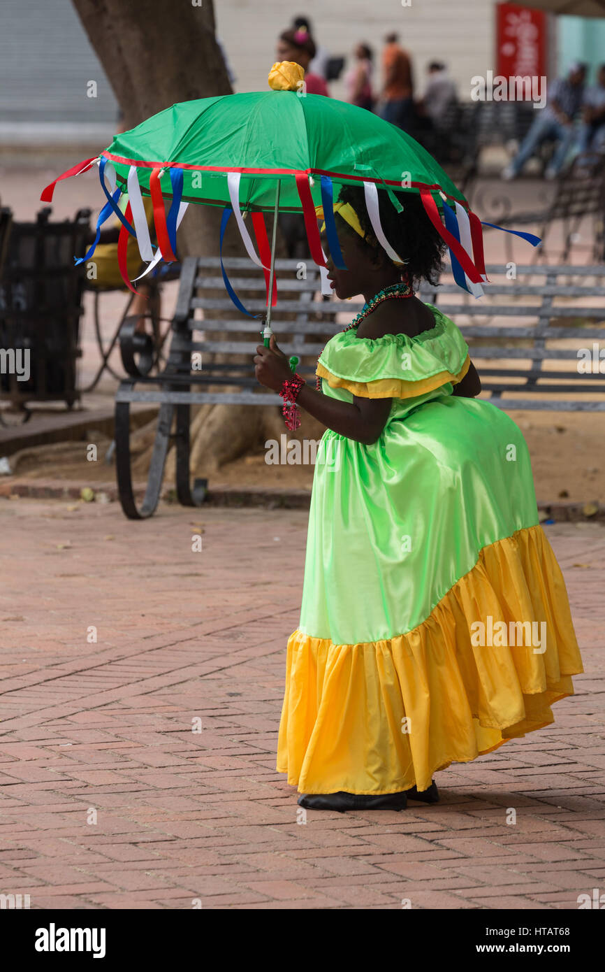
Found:
[[(225, 260), (224, 263), (228, 271), (250, 271), (247, 259)], [(336, 322), (336, 314), (344, 312), (351, 319), (353, 305), (335, 299), (322, 302), (318, 298), (319, 270), (315, 264), (307, 263), (306, 279), (298, 280), (296, 270), (302, 265), (296, 260), (276, 261), (280, 301), (273, 325), (281, 349), (288, 356), (299, 357), (296, 370), (315, 385), (319, 353), (326, 339), (342, 328), (342, 324)], [(206, 481), (196, 480), (191, 485), (189, 477), (191, 405), (218, 402), (282, 404), (278, 395), (267, 392), (254, 377), (252, 358), (256, 344), (262, 340), (261, 322), (233, 312), (224, 295), (218, 271), (216, 258), (185, 259), (172, 321), (168, 361), (160, 374), (149, 374), (152, 357), (149, 335), (132, 331), (120, 335), (122, 361), (128, 377), (120, 382), (116, 395), (116, 462), (119, 498), (130, 519), (143, 519), (153, 513), (171, 442), (176, 446), (179, 502), (184, 505), (203, 502)], [(489, 393), (495, 405), (506, 409), (605, 411), (605, 374), (582, 375), (577, 369), (578, 347), (591, 349), (593, 342), (600, 340), (605, 348), (605, 312), (602, 309), (605, 266), (523, 266), (518, 268), (518, 280), (502, 284), (496, 278), (503, 272), (502, 266), (487, 267), (487, 274), (494, 283), (486, 286), (486, 296), (481, 300), (468, 298), (456, 285), (447, 282), (437, 288), (423, 286), (420, 296), (436, 304), (460, 326), (479, 369), (484, 392)], [(527, 274), (545, 276), (546, 281), (542, 284), (523, 283), (520, 278)], [(579, 276), (580, 284), (570, 286), (560, 282), (562, 277), (569, 276)], [(591, 277), (598, 278), (597, 285), (590, 284)], [(252, 312), (262, 315), (264, 281), (257, 275), (253, 278), (233, 276), (231, 283), (240, 295), (245, 290), (257, 295), (246, 304)], [(454, 299), (449, 302), (450, 295)], [(589, 300), (594, 304), (595, 299), (597, 306), (585, 306)], [(204, 313), (203, 319), (198, 315), (200, 310)], [(290, 320), (285, 320), (285, 315)], [(196, 331), (203, 333), (196, 337)], [(554, 341), (557, 347), (551, 346)], [(559, 343), (564, 347), (558, 347)], [(216, 357), (208, 363), (203, 358), (202, 369), (192, 370), (192, 355), (200, 353)], [(140, 356), (138, 364), (137, 356)], [(572, 361), (574, 367), (566, 370), (544, 367), (544, 364)], [(583, 394), (595, 392), (600, 394), (598, 400), (582, 399)], [(557, 398), (549, 398), (553, 394)], [(564, 395), (562, 399), (561, 394)], [(521, 398), (515, 398), (520, 395)], [(134, 499), (130, 470), (131, 401), (157, 402), (160, 406), (149, 480), (140, 507)]]

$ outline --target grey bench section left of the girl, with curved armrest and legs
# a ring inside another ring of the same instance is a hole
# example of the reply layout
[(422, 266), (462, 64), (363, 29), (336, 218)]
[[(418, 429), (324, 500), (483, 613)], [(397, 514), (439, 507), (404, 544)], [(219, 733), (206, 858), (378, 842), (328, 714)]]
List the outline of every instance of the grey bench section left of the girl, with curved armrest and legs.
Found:
[[(268, 392), (254, 376), (252, 358), (262, 343), (261, 317), (265, 310), (265, 283), (250, 273), (247, 258), (224, 260), (231, 284), (258, 318), (246, 318), (235, 310), (220, 276), (218, 258), (185, 258), (177, 306), (172, 320), (168, 360), (160, 373), (151, 375), (150, 335), (135, 334), (128, 322), (119, 336), (122, 363), (128, 377), (120, 382), (116, 395), (116, 467), (122, 509), (130, 519), (151, 516), (162, 484), (164, 464), (171, 442), (176, 446), (176, 490), (180, 503), (199, 505), (205, 495), (205, 480), (189, 482), (189, 408), (194, 404), (283, 404), (279, 395)], [(305, 268), (306, 279), (297, 279)], [(277, 315), (272, 320), (280, 348), (297, 355), (296, 370), (315, 386), (315, 368), (325, 341), (337, 330), (336, 313), (351, 314), (347, 301), (324, 302), (319, 295), (319, 268), (311, 261), (276, 260), (280, 293)], [(252, 299), (243, 295), (252, 293)], [(199, 312), (203, 312), (203, 319)], [(289, 320), (286, 320), (289, 318)], [(202, 335), (196, 337), (196, 331)], [(215, 335), (215, 336), (213, 336)], [(193, 355), (202, 355), (201, 369)], [(207, 361), (207, 356), (211, 360)], [(138, 360), (137, 360), (138, 359)], [(145, 498), (135, 503), (130, 470), (129, 408), (131, 401), (157, 402), (159, 414), (152, 450)], [(172, 432), (173, 422), (175, 431)]]

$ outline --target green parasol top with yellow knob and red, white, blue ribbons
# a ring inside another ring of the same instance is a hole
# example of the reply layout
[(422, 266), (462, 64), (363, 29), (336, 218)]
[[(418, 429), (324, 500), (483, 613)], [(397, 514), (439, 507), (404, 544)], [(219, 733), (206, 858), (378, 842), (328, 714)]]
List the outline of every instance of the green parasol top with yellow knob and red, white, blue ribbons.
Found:
[[(141, 258), (149, 264), (141, 274), (145, 276), (159, 260), (177, 259), (177, 228), (189, 203), (223, 209), (220, 246), (233, 214), (249, 256), (265, 273), (270, 333), (271, 306), (277, 299), (274, 257), (279, 211), (303, 214), (312, 259), (324, 269), (317, 219), (321, 207), (332, 259), (344, 266), (333, 204), (340, 186), (362, 186), (377, 240), (391, 260), (405, 262), (405, 255), (395, 253), (383, 231), (379, 194), (386, 193), (401, 211), (404, 207), (394, 191), (416, 192), (450, 249), (454, 280), (467, 292), (482, 295), (481, 284), (487, 282), (482, 224), (439, 163), (410, 135), (372, 112), (335, 98), (307, 94), (302, 79), (299, 65), (281, 62), (273, 65), (269, 75), (272, 90), (173, 105), (116, 135), (100, 156), (63, 173), (42, 193), (42, 199), (50, 201), (59, 180), (98, 164), (107, 202), (97, 222), (97, 239), (101, 224), (114, 212), (122, 224), (118, 265), (131, 290), (125, 260), (128, 233), (137, 237)], [(118, 206), (122, 192), (127, 197), (125, 212)], [(158, 243), (155, 253), (142, 195), (151, 195)], [(267, 211), (275, 214), (271, 247), (264, 225)], [(247, 213), (251, 219), (245, 222)], [(248, 228), (251, 223), (254, 242)], [(534, 245), (539, 242), (531, 234), (519, 235)], [(77, 262), (89, 260), (94, 245)], [(222, 274), (231, 299), (248, 313), (234, 294), (224, 267)]]

